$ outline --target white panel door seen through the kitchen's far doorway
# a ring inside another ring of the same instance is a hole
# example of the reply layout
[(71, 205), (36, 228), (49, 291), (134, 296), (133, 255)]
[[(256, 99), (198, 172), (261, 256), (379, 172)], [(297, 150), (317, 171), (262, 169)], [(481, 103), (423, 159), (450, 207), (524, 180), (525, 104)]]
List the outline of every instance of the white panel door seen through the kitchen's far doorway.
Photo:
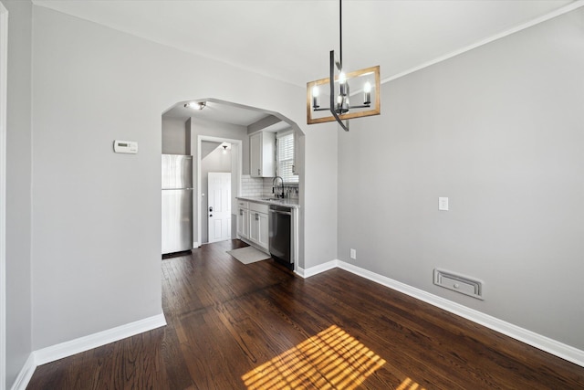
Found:
[(231, 238), (231, 173), (209, 173), (209, 242)]

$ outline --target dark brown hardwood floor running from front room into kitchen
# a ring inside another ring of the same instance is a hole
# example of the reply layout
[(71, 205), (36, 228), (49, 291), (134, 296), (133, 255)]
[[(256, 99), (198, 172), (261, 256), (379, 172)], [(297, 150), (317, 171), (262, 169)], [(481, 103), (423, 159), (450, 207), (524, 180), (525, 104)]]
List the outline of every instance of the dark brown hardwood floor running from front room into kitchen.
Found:
[(584, 368), (333, 269), (162, 260), (168, 326), (36, 368), (28, 389), (584, 389)]

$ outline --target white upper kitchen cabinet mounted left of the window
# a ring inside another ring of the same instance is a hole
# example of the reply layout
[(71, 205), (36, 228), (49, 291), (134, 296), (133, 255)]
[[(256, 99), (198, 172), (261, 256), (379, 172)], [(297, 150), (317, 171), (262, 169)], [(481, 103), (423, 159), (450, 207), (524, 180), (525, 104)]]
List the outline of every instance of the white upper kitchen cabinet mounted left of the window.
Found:
[(256, 132), (250, 135), (249, 158), (252, 177), (276, 176), (276, 134)]

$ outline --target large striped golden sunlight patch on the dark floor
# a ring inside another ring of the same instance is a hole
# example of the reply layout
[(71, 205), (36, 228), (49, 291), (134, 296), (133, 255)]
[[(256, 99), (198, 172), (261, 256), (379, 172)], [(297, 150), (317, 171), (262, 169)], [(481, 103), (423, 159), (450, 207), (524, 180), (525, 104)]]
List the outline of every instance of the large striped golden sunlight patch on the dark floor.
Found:
[(383, 364), (380, 356), (332, 325), (242, 379), (249, 390), (354, 389)]

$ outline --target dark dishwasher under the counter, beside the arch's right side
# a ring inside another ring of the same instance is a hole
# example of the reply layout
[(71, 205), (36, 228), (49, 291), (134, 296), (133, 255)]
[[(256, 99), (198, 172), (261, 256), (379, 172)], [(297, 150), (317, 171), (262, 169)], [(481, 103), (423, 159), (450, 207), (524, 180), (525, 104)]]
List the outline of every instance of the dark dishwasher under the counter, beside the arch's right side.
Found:
[(270, 205), (270, 255), (288, 269), (294, 269), (292, 258), (292, 211), (290, 207)]

